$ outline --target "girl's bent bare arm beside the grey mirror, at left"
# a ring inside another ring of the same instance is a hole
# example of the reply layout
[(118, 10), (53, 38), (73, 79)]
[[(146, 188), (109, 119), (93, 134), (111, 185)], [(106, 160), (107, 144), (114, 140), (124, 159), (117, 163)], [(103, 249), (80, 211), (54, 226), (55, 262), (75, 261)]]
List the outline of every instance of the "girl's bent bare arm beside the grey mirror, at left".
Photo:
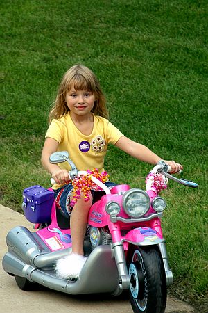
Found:
[(49, 157), (58, 149), (58, 141), (53, 138), (46, 138), (44, 147), (42, 149), (42, 165), (51, 174), (57, 184), (65, 184), (69, 181), (69, 173), (67, 170), (62, 170), (57, 164), (51, 164)]

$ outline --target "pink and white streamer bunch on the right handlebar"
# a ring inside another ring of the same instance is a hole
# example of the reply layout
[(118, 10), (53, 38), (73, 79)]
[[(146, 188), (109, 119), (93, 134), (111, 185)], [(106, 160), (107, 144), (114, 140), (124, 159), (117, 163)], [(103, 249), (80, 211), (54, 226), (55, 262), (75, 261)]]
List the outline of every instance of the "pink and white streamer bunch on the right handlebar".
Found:
[(162, 191), (162, 189), (167, 188), (168, 179), (164, 177), (160, 172), (150, 172), (146, 177), (146, 184), (148, 186), (148, 190), (155, 191), (157, 194)]

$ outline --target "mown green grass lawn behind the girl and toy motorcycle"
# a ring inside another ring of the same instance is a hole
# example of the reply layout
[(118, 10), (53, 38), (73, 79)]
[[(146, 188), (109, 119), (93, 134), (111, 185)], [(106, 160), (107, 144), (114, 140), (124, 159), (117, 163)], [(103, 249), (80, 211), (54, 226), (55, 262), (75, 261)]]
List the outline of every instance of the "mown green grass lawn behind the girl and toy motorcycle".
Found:
[[(0, 24), (1, 204), (21, 211), (23, 188), (49, 186), (40, 164), (49, 106), (62, 74), (89, 66), (114, 125), (180, 161), (184, 177), (199, 184), (170, 182), (163, 225), (172, 292), (205, 307), (207, 1), (4, 0)], [(105, 164), (112, 180), (141, 188), (151, 168), (115, 147)]]

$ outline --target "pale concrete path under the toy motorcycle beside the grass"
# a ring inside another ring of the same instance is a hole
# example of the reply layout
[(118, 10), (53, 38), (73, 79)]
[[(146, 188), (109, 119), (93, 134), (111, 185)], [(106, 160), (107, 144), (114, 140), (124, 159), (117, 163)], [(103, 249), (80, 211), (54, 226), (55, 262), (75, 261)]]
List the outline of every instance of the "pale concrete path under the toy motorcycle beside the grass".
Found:
[[(6, 246), (6, 234), (12, 227), (17, 225), (25, 226), (33, 231), (33, 225), (29, 223), (22, 214), (19, 214), (8, 207), (0, 204), (0, 261), (8, 251)], [(37, 313), (37, 312), (58, 312), (58, 313), (132, 313), (132, 307), (126, 298), (111, 298), (101, 295), (94, 296), (71, 296), (58, 291), (46, 289), (40, 286), (35, 291), (21, 291), (15, 279), (3, 271), (0, 264), (0, 312), (4, 313)], [(166, 313), (194, 312), (193, 308), (182, 301), (168, 298)]]

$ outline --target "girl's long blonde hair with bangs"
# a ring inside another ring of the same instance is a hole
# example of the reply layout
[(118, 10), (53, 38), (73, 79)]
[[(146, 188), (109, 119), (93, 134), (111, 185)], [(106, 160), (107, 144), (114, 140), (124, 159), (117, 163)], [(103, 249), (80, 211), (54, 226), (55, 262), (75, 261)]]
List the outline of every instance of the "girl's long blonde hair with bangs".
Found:
[(58, 94), (49, 113), (49, 124), (53, 118), (60, 119), (69, 112), (65, 98), (72, 87), (75, 90), (87, 90), (94, 93), (96, 101), (92, 113), (108, 118), (105, 96), (94, 72), (84, 65), (73, 65), (62, 77)]

